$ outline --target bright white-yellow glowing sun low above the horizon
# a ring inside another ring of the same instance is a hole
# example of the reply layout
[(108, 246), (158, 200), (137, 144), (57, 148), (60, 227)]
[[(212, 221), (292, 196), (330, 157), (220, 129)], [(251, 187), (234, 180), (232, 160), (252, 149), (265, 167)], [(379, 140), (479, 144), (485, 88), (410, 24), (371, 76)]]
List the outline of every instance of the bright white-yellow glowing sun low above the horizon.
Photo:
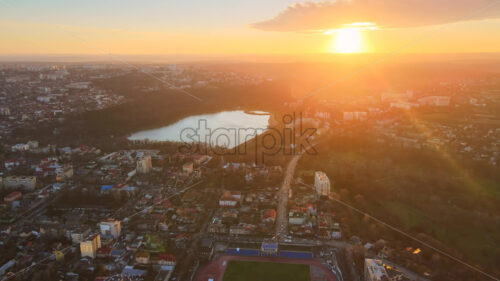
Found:
[(358, 28), (343, 28), (336, 30), (330, 51), (333, 53), (363, 52), (363, 40)]

